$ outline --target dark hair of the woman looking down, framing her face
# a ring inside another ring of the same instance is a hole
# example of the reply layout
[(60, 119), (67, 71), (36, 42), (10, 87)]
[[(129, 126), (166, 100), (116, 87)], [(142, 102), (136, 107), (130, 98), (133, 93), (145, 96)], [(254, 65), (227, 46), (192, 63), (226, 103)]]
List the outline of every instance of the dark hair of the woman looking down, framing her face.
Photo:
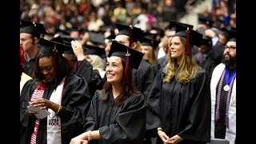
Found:
[[(54, 57), (54, 55), (40, 56), (39, 54), (38, 57), (36, 58), (34, 62), (34, 78), (38, 81), (43, 81), (46, 79), (39, 68), (39, 58), (42, 58), (42, 57), (50, 58), (50, 57)], [(56, 58), (56, 63), (57, 63), (56, 68), (54, 67), (54, 69), (56, 69), (56, 77), (54, 82), (58, 84), (59, 82), (62, 81), (62, 78), (64, 78), (67, 74), (74, 73), (74, 65), (69, 59), (64, 58), (62, 55)]]

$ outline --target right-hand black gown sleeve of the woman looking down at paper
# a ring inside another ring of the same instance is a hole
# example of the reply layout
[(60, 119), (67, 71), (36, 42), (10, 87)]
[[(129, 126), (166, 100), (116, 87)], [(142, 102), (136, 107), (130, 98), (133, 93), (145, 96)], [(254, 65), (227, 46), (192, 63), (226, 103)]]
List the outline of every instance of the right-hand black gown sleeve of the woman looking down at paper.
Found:
[(62, 120), (64, 142), (70, 142), (78, 134), (82, 134), (82, 126), (86, 122), (86, 114), (90, 108), (88, 84), (84, 78), (72, 74), (66, 78), (62, 98), (62, 110), (58, 116)]

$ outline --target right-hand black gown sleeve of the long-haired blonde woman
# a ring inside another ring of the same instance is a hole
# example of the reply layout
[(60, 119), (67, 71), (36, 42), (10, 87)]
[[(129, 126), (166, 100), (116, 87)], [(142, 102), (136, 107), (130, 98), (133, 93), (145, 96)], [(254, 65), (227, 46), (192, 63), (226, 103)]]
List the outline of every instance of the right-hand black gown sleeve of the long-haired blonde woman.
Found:
[(186, 118), (186, 128), (178, 133), (182, 138), (195, 141), (210, 141), (210, 86), (205, 70), (200, 69), (194, 80), (194, 102)]

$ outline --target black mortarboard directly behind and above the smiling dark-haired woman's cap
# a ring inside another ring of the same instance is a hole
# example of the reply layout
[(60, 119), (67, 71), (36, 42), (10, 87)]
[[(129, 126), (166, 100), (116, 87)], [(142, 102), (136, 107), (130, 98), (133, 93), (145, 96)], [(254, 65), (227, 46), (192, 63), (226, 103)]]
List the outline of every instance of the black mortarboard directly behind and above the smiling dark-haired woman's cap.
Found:
[[(131, 37), (133, 42), (140, 41), (142, 38), (142, 30), (135, 26), (129, 26), (124, 25), (121, 23), (116, 23), (116, 26), (118, 28), (118, 34), (117, 35), (126, 35), (128, 37)], [(130, 33), (131, 31), (131, 33)]]

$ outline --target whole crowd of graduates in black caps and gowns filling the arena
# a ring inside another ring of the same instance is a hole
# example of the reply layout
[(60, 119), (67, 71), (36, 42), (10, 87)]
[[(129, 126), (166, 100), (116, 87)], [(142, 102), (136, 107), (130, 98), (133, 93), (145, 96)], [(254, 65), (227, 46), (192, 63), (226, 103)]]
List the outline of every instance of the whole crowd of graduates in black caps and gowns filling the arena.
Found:
[(235, 2), (154, 4), (22, 3), (21, 143), (235, 143)]

